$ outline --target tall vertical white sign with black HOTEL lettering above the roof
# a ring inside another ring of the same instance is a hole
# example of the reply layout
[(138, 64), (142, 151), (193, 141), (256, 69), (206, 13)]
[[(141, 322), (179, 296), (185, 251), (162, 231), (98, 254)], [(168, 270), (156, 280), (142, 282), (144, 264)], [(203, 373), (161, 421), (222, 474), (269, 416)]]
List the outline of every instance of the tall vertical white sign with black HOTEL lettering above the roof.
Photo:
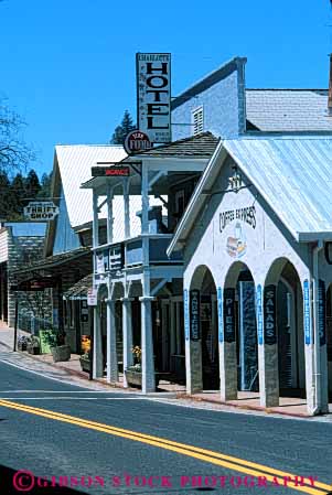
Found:
[(171, 54), (137, 53), (137, 126), (151, 142), (171, 139)]

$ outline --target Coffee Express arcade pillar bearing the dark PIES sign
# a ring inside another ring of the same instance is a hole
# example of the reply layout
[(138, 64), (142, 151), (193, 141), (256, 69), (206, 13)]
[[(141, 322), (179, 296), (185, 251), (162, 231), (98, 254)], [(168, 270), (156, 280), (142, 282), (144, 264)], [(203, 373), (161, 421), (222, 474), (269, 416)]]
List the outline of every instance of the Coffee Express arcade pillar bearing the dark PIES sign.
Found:
[(217, 288), (221, 400), (237, 399), (235, 289)]

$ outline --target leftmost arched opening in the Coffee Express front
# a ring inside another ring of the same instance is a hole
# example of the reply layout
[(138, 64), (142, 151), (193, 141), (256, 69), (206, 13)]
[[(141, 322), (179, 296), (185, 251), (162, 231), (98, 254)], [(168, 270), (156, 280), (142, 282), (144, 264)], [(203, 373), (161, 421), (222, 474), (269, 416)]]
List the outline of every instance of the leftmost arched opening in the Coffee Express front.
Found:
[[(219, 389), (218, 322), (216, 286), (210, 269), (196, 269), (190, 288), (191, 309), (199, 303), (199, 335), (192, 333), (191, 340), (200, 340), (202, 345), (202, 381), (204, 390)], [(192, 325), (191, 310), (191, 325)], [(191, 331), (193, 326), (191, 326)]]

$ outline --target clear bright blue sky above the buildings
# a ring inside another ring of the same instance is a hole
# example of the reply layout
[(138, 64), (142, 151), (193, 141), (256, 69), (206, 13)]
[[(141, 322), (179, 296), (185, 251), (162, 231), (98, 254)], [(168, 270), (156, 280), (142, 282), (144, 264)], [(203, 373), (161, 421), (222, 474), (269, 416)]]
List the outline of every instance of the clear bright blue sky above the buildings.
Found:
[(137, 52), (172, 54), (173, 97), (234, 56), (247, 87), (326, 88), (330, 0), (0, 1), (0, 95), (39, 174), (55, 144), (107, 143), (136, 117)]

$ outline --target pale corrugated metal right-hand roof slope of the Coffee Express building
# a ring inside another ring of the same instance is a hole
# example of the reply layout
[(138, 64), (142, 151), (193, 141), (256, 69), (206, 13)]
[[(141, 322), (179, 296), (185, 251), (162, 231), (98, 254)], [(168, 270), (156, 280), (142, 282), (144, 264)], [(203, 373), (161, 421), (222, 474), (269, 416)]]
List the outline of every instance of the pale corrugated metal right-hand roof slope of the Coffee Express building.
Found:
[(332, 232), (332, 137), (243, 138), (224, 147), (290, 232)]

